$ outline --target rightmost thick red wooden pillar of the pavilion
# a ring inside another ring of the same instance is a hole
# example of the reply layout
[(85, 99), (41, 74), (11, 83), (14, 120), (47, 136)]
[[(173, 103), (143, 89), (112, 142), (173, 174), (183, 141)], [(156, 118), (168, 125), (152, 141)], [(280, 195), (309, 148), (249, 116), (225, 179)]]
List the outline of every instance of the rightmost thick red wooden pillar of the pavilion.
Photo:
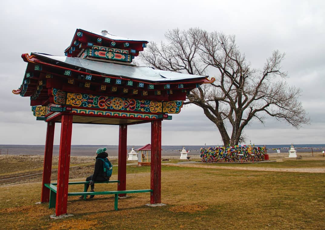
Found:
[(151, 122), (151, 204), (161, 203), (162, 121)]

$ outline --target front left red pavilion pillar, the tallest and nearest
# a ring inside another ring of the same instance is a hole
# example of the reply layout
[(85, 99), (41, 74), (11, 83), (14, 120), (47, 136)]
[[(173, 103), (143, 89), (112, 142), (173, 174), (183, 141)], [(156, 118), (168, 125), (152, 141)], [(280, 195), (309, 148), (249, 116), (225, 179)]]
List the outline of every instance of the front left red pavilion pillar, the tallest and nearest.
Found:
[(57, 202), (55, 206), (56, 216), (67, 213), (71, 134), (72, 115), (64, 114), (61, 118)]

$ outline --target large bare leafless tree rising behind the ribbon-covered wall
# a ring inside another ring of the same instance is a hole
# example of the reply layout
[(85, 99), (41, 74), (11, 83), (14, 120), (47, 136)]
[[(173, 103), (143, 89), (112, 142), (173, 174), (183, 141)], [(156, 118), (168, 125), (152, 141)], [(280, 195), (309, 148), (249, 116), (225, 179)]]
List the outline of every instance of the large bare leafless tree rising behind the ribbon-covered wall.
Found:
[[(262, 70), (254, 69), (240, 53), (234, 35), (191, 28), (165, 33), (167, 44), (150, 43), (140, 54), (147, 65), (162, 70), (206, 74), (217, 70), (216, 81), (190, 92), (185, 104), (200, 106), (217, 126), (224, 145), (245, 141), (243, 129), (253, 119), (264, 123), (266, 116), (285, 120), (295, 128), (309, 124), (299, 101), (300, 88), (290, 87), (282, 71), (285, 54), (273, 51)], [(227, 124), (232, 127), (227, 132)]]

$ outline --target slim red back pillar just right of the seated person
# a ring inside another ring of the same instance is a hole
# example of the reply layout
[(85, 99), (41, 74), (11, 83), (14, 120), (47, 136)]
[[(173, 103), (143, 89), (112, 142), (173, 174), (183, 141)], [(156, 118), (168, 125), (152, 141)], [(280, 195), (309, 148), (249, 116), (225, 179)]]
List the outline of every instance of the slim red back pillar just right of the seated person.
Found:
[[(119, 159), (118, 159), (118, 175), (117, 180), (120, 183), (117, 185), (118, 191), (126, 190), (126, 140), (127, 140), (127, 125), (120, 125), (119, 130)], [(126, 194), (119, 194), (125, 196)]]

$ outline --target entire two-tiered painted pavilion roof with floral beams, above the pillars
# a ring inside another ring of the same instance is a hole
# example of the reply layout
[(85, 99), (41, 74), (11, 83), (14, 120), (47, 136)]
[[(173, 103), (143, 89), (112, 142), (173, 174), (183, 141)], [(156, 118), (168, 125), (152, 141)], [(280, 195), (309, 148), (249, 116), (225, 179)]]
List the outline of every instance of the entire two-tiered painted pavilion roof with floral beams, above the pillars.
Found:
[[(96, 35), (89, 33), (78, 29), (74, 39), (77, 36), (81, 42)], [(62, 114), (72, 113), (74, 123), (137, 124), (172, 119), (169, 114), (180, 112), (190, 90), (214, 82), (207, 76), (131, 65), (128, 55), (134, 48), (143, 50), (139, 44), (146, 41), (111, 35), (105, 39), (98, 43), (109, 47), (81, 46), (82, 55), (77, 56), (76, 47), (68, 57), (22, 54), (27, 68), (21, 86), (13, 93), (31, 98), (37, 120), (60, 122)], [(113, 40), (113, 44), (107, 42)], [(126, 48), (120, 49), (118, 44)]]

